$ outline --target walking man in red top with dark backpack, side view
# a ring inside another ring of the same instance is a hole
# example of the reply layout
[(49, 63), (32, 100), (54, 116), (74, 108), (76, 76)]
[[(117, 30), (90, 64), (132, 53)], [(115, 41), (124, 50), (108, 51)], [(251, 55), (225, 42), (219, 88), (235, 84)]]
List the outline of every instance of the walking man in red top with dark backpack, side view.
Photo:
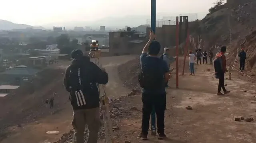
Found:
[[(226, 68), (226, 56), (224, 55), (224, 53), (226, 53), (226, 50), (227, 50), (226, 46), (222, 46), (220, 48), (220, 53), (216, 55), (216, 59), (214, 59), (215, 76), (216, 78), (219, 78), (218, 92), (217, 92), (217, 95), (219, 96), (228, 94), (230, 92), (226, 90), (224, 85), (225, 73), (228, 72)], [(220, 92), (221, 88), (224, 94)]]

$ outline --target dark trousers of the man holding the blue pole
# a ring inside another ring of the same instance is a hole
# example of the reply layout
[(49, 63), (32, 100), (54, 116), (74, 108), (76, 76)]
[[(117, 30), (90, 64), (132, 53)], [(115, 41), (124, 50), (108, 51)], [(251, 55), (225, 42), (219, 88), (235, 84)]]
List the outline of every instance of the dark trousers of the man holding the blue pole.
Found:
[(152, 108), (156, 111), (156, 127), (158, 133), (164, 133), (164, 111), (166, 94), (142, 94), (142, 133), (148, 135), (149, 120)]

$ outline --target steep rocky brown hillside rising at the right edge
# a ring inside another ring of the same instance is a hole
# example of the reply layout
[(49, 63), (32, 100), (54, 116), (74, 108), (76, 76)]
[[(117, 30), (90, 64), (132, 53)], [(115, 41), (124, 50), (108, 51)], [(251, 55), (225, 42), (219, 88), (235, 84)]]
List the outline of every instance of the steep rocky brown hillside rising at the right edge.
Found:
[[(254, 52), (256, 20), (253, 18), (256, 16), (255, 6), (256, 2), (252, 0), (244, 0), (243, 4), (234, 4), (232, 8), (227, 5), (225, 8), (206, 16), (199, 22), (196, 29), (190, 27), (193, 31), (191, 35), (195, 39), (200, 35), (204, 42), (204, 49), (207, 51), (215, 46), (227, 45), (230, 54), (227, 57), (228, 65), (233, 65), (236, 55), (241, 48), (244, 48), (248, 54), (246, 72), (252, 74), (256, 71)], [(228, 20), (229, 18), (230, 20)], [(232, 29), (231, 36), (230, 28)], [(213, 48), (213, 51), (216, 52), (217, 49)], [(238, 68), (239, 64), (236, 64), (236, 67)]]

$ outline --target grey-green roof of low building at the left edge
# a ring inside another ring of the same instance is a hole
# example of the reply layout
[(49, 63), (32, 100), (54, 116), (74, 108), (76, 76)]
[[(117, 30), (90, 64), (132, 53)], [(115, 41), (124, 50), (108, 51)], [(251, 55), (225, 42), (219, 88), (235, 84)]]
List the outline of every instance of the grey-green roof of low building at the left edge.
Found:
[(30, 67), (14, 67), (12, 69), (8, 69), (0, 74), (15, 74), (15, 75), (34, 75), (39, 70), (33, 69)]

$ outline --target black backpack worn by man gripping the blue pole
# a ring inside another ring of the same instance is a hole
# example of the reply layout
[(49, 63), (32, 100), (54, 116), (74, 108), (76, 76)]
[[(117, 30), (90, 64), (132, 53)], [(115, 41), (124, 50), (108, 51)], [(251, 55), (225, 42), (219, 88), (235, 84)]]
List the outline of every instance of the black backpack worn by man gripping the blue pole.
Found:
[(140, 87), (144, 89), (161, 89), (164, 87), (164, 73), (161, 70), (161, 61), (156, 66), (148, 63), (142, 66), (138, 76)]

